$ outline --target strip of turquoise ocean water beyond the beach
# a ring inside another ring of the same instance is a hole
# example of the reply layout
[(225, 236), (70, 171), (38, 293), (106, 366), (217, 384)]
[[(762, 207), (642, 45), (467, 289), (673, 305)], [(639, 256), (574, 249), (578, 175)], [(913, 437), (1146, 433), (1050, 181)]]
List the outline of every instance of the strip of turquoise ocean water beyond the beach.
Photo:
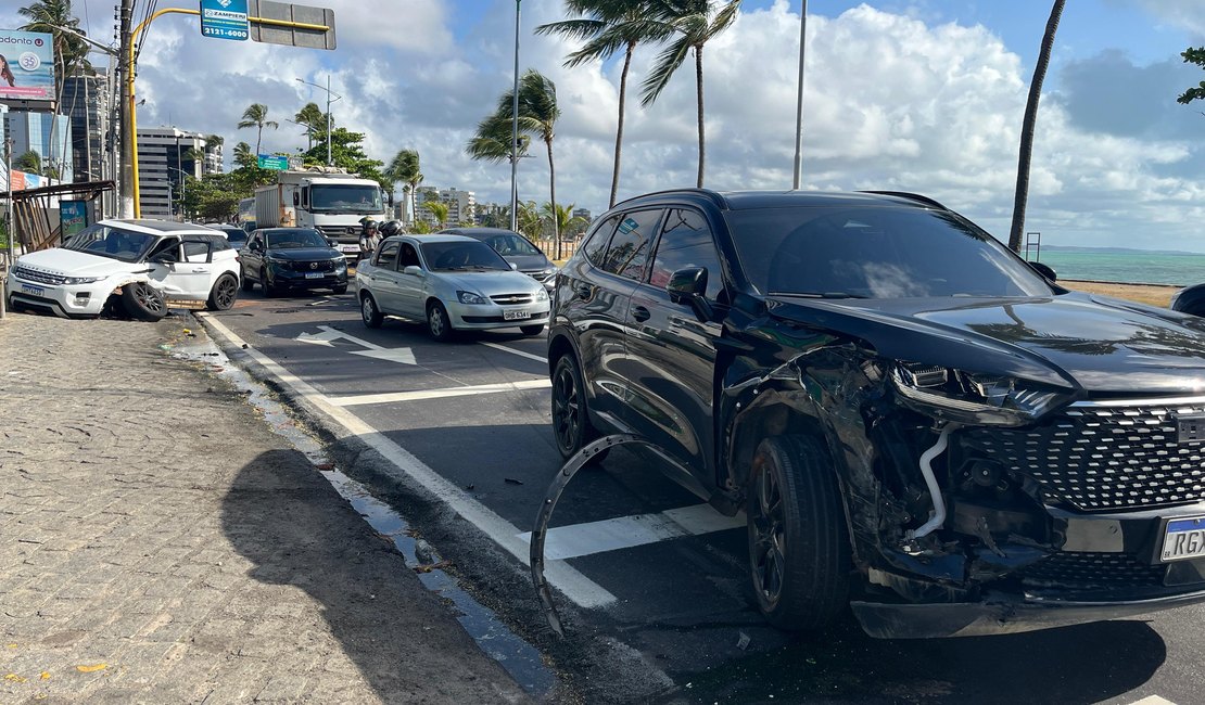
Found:
[(1133, 284), (1200, 284), (1205, 282), (1205, 254), (1168, 254), (1147, 250), (1042, 250), (1035, 257), (1054, 268), (1059, 279), (1091, 279)]

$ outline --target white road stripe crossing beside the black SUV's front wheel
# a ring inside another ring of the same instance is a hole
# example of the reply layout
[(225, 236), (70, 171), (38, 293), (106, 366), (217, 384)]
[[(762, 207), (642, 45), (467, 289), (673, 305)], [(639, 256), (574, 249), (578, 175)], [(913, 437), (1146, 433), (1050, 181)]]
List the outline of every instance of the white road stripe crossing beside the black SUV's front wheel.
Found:
[[(660, 514), (637, 514), (551, 528), (545, 534), (543, 555), (548, 559), (564, 561), (743, 526), (743, 514), (724, 516), (710, 504), (694, 504)], [(518, 538), (530, 544), (531, 532), (524, 532)]]

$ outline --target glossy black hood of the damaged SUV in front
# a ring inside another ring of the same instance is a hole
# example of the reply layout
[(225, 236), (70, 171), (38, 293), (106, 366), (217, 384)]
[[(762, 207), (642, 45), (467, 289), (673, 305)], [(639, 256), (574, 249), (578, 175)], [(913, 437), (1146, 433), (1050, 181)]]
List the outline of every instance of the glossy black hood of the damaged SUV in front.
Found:
[(895, 360), (1006, 374), (1093, 396), (1205, 392), (1205, 322), (1072, 292), (1041, 298), (776, 297), (774, 316)]

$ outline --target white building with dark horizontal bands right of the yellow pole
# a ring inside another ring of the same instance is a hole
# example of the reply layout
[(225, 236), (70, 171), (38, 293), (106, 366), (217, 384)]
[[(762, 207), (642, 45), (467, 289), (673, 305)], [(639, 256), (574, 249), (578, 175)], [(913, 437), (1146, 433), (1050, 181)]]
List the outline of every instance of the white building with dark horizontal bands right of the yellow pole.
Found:
[[(200, 132), (178, 128), (139, 128), (139, 205), (145, 218), (174, 218), (186, 174), (201, 178), (213, 148)], [(221, 159), (222, 148), (217, 146)]]

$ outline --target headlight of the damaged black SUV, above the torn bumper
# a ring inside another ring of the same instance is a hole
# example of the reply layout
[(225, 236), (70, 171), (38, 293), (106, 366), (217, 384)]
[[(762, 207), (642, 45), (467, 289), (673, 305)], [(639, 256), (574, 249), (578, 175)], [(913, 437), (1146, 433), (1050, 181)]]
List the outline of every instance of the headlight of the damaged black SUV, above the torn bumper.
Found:
[(892, 381), (906, 407), (972, 425), (1023, 426), (1070, 401), (1025, 380), (911, 362), (898, 363)]

